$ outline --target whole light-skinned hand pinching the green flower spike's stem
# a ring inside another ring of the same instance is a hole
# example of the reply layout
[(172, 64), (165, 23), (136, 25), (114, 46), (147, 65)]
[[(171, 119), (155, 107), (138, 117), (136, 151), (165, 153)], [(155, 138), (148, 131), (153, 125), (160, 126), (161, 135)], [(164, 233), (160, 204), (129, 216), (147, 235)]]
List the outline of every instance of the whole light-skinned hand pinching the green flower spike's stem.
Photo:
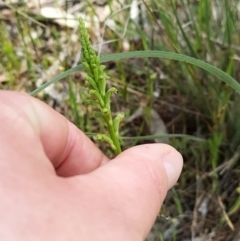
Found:
[(0, 91), (3, 241), (142, 241), (182, 157), (136, 146), (109, 159), (65, 117), (26, 94)]

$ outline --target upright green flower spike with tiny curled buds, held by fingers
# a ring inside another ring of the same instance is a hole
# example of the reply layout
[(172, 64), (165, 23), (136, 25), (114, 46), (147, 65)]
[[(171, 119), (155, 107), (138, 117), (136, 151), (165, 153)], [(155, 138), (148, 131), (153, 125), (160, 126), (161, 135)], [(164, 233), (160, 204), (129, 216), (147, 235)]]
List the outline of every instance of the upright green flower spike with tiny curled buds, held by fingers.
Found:
[(98, 111), (95, 112), (95, 116), (104, 122), (109, 133), (109, 135), (98, 134), (96, 139), (108, 142), (114, 152), (119, 154), (121, 152), (119, 124), (123, 118), (123, 114), (118, 114), (113, 118), (110, 105), (111, 95), (116, 93), (117, 89), (112, 87), (106, 90), (109, 76), (104, 73), (105, 66), (100, 65), (100, 58), (92, 48), (84, 21), (80, 19), (79, 22), (82, 45), (82, 64), (87, 73), (85, 79), (89, 84), (89, 94), (93, 97), (93, 99), (89, 100), (89, 103), (98, 109)]

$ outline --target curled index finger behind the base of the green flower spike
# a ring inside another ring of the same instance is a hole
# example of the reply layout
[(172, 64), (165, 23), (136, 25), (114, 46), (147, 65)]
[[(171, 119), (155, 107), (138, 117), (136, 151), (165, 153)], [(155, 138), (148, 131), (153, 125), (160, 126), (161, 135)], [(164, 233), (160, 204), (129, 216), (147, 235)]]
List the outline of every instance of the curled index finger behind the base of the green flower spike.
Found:
[(43, 148), (43, 157), (51, 160), (59, 175), (88, 173), (108, 161), (83, 132), (43, 102), (0, 91), (0, 107), (1, 139), (19, 150), (31, 150), (38, 143), (32, 151)]

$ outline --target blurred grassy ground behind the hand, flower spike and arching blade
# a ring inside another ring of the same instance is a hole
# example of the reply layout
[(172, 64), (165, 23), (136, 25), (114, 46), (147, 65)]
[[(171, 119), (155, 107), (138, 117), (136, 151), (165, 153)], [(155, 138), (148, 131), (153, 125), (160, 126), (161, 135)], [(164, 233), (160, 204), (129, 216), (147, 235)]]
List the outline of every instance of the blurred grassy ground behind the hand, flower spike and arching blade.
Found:
[[(5, 1), (0, 3), (0, 88), (30, 93), (81, 62), (78, 18), (101, 55), (164, 50), (240, 76), (238, 0)], [(163, 59), (107, 64), (122, 146), (167, 142), (184, 156), (178, 184), (148, 240), (240, 240), (240, 96), (206, 72)], [(40, 92), (91, 138), (102, 132), (84, 73)], [(98, 143), (109, 156), (105, 144)], [(146, 215), (148, 215), (146, 213)]]

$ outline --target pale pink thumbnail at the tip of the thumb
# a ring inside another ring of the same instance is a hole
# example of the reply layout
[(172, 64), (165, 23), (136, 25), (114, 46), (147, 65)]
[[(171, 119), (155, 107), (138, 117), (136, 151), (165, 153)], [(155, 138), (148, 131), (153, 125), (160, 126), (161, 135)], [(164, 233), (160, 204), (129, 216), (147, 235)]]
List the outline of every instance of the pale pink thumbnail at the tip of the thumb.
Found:
[(182, 170), (182, 155), (177, 151), (171, 151), (163, 157), (163, 163), (168, 177), (168, 188), (171, 188), (178, 180)]

